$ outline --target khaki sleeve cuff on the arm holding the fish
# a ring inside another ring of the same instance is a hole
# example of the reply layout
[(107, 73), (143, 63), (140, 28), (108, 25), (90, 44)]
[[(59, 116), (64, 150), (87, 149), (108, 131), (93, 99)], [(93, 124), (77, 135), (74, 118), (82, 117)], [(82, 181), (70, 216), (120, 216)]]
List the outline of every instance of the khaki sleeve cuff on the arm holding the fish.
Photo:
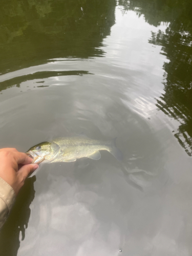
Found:
[(0, 228), (5, 223), (14, 201), (13, 188), (0, 177)]

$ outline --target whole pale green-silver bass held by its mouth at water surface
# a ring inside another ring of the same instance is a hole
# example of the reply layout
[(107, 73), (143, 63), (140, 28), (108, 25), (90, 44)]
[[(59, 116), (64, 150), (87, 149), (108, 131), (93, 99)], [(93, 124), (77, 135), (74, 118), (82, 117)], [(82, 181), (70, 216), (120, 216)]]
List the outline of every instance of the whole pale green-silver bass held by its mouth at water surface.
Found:
[(121, 161), (123, 155), (116, 147), (115, 140), (116, 138), (113, 141), (100, 141), (87, 137), (59, 137), (32, 146), (26, 154), (33, 159), (32, 163), (39, 164), (75, 162), (84, 157), (99, 160), (100, 151), (105, 150)]

